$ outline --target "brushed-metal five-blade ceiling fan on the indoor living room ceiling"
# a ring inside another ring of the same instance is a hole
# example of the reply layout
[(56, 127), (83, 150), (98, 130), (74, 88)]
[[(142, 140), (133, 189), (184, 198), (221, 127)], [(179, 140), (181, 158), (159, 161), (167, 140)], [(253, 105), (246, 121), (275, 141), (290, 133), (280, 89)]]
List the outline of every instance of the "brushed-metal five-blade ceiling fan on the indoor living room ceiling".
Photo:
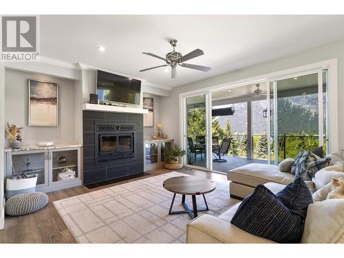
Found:
[(197, 50), (193, 50), (189, 54), (186, 54), (185, 56), (183, 56), (182, 53), (175, 51), (175, 47), (177, 46), (177, 42), (178, 41), (176, 39), (172, 39), (170, 41), (170, 44), (173, 47), (173, 51), (167, 53), (166, 58), (161, 57), (161, 56), (157, 56), (157, 55), (152, 54), (152, 53), (142, 52), (142, 54), (147, 54), (148, 56), (153, 56), (155, 58), (159, 58), (159, 59), (165, 61), (166, 65), (158, 65), (155, 67), (142, 69), (142, 70), (140, 70), (140, 72), (145, 72), (145, 71), (148, 71), (150, 69), (155, 69), (158, 67), (171, 66), (171, 78), (175, 78), (175, 76), (176, 76), (175, 72), (176, 72), (177, 65), (180, 65), (181, 67), (199, 70), (202, 72), (208, 72), (211, 70), (211, 67), (202, 66), (202, 65), (191, 65), (189, 63), (184, 63), (185, 61), (188, 61), (188, 60), (195, 58), (197, 56), (202, 56), (202, 54), (204, 54), (204, 52), (197, 48)]

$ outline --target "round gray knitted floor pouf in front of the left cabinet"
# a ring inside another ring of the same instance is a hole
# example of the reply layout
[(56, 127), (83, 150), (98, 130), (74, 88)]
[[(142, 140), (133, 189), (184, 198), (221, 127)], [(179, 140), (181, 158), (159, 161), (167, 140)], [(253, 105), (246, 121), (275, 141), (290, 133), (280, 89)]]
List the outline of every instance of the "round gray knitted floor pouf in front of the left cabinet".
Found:
[(34, 213), (47, 205), (49, 197), (45, 193), (20, 193), (7, 200), (5, 204), (6, 214), (20, 216)]

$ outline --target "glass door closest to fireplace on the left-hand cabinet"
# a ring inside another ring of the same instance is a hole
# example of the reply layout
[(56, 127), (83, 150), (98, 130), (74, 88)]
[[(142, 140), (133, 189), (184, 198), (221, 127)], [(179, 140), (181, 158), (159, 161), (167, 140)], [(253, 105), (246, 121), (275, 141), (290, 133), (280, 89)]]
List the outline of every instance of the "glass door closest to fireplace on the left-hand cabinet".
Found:
[(52, 151), (50, 182), (65, 182), (78, 178), (78, 150)]

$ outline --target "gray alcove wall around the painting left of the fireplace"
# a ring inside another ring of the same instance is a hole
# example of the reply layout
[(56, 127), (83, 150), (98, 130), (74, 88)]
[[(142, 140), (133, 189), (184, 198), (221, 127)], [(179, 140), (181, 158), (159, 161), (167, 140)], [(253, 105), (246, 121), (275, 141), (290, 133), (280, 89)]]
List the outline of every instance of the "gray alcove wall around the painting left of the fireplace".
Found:
[[(58, 127), (28, 127), (28, 79), (47, 80), (58, 83)], [(23, 144), (52, 141), (73, 143), (75, 137), (76, 81), (6, 69), (5, 121), (24, 127)], [(8, 144), (8, 142), (6, 142)]]

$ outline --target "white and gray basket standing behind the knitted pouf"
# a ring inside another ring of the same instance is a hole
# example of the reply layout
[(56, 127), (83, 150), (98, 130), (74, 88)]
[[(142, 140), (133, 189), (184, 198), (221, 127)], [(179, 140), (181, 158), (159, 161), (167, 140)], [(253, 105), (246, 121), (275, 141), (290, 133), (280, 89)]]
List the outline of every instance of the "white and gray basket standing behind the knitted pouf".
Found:
[(6, 200), (19, 193), (32, 193), (36, 191), (37, 177), (6, 180)]

